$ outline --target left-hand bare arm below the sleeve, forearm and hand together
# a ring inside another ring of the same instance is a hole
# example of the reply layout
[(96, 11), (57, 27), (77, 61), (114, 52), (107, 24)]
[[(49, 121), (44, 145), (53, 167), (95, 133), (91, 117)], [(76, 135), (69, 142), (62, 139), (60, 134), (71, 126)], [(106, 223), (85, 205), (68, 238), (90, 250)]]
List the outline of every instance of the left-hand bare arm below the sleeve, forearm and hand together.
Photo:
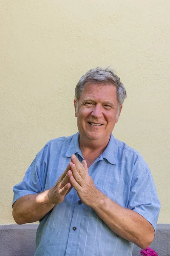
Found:
[(25, 195), (13, 205), (13, 217), (17, 224), (26, 224), (41, 220), (55, 204), (61, 204), (72, 189), (69, 177), (72, 175), (70, 162), (57, 183), (51, 189), (36, 195)]

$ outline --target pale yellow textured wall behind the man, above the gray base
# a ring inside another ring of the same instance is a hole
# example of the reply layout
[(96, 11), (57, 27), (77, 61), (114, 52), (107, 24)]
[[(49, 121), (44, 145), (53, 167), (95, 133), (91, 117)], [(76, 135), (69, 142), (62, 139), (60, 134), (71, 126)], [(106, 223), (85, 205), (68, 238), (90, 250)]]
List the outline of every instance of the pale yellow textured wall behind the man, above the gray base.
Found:
[(111, 65), (127, 89), (116, 138), (152, 170), (170, 223), (170, 1), (2, 1), (0, 224), (14, 223), (12, 187), (45, 143), (77, 132), (74, 88)]

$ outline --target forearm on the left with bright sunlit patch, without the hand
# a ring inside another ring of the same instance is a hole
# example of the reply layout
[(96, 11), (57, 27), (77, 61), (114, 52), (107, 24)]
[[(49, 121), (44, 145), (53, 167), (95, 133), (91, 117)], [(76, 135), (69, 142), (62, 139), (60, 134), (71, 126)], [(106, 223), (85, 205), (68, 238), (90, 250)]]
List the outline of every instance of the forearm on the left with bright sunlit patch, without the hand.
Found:
[(26, 224), (42, 219), (55, 204), (48, 198), (49, 190), (37, 195), (25, 195), (19, 198), (13, 207), (12, 215), (17, 224)]

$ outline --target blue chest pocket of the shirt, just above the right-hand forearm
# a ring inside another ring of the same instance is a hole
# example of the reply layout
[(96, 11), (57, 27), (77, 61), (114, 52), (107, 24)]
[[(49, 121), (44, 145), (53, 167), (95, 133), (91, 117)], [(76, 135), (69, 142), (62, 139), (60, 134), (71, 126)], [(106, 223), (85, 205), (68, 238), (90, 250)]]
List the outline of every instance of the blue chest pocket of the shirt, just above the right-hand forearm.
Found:
[(123, 182), (98, 180), (97, 188), (103, 192), (108, 198), (122, 207), (127, 207), (128, 193), (127, 186)]

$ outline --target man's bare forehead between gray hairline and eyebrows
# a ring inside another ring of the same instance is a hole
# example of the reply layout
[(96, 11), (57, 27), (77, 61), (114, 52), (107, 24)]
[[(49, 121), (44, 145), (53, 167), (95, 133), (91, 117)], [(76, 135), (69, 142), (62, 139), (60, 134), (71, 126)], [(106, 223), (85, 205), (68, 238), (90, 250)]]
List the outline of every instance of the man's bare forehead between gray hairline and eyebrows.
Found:
[(88, 97), (116, 100), (116, 86), (108, 83), (88, 83), (83, 87), (80, 100)]

